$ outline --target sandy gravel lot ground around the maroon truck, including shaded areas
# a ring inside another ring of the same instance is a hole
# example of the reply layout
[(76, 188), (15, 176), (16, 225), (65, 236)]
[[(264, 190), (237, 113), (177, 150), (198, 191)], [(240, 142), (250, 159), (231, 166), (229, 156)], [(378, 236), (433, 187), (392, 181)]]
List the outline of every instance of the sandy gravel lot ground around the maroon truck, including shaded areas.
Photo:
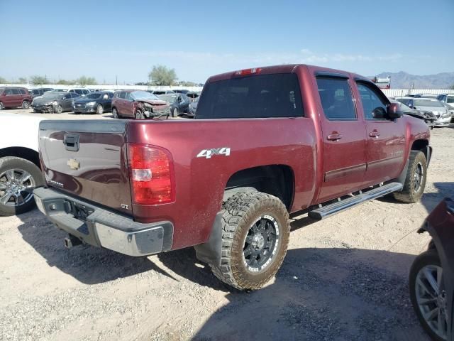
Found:
[(282, 269), (253, 293), (223, 286), (192, 249), (141, 259), (67, 250), (37, 210), (0, 217), (1, 339), (428, 340), (407, 275), (429, 240), (416, 229), (454, 193), (454, 129), (433, 130), (431, 144), (422, 202), (384, 198), (323, 222), (295, 219)]

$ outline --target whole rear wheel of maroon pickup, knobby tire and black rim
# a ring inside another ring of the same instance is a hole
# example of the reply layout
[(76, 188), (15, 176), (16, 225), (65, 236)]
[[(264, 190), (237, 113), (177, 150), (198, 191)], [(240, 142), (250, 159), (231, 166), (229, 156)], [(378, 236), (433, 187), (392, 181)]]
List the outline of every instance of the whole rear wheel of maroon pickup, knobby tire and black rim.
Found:
[(289, 243), (289, 214), (273, 195), (255, 190), (223, 205), (221, 266), (211, 270), (239, 290), (261, 288), (279, 270)]

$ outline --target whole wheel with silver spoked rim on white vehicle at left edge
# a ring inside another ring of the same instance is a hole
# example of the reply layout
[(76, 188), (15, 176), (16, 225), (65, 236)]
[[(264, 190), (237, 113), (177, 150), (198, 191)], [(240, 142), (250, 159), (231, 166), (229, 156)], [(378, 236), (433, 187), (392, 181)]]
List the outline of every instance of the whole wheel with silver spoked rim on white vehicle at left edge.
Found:
[(23, 158), (0, 158), (0, 215), (17, 215), (35, 205), (33, 188), (43, 185), (40, 169)]

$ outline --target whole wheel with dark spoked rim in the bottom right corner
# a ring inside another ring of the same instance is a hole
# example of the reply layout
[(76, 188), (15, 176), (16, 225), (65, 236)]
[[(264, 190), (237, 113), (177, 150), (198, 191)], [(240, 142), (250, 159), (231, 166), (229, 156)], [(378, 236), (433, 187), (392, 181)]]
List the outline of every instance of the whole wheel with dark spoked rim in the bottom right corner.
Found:
[(416, 257), (410, 270), (411, 304), (424, 330), (433, 340), (445, 341), (448, 333), (447, 300), (443, 269), (436, 250)]

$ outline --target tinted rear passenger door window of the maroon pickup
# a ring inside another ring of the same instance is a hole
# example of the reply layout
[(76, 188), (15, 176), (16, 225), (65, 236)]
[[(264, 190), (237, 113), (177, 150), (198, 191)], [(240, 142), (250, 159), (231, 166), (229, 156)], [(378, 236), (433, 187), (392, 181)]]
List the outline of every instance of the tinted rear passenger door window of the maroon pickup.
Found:
[(321, 106), (330, 121), (357, 119), (348, 80), (337, 77), (317, 77)]

